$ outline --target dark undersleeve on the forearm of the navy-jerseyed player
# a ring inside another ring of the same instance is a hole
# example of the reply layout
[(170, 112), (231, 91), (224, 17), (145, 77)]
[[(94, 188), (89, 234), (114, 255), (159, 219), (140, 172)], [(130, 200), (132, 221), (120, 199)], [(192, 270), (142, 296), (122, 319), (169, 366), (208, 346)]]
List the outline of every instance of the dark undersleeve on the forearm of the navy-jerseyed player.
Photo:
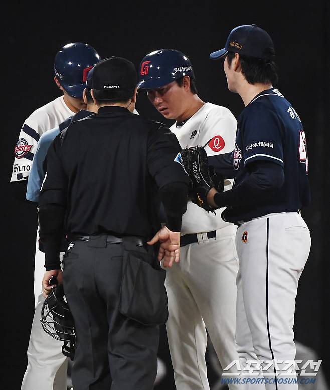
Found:
[(219, 206), (243, 206), (257, 204), (265, 196), (282, 187), (284, 170), (281, 165), (268, 161), (256, 161), (247, 166), (249, 177), (237, 187), (216, 193), (214, 202)]

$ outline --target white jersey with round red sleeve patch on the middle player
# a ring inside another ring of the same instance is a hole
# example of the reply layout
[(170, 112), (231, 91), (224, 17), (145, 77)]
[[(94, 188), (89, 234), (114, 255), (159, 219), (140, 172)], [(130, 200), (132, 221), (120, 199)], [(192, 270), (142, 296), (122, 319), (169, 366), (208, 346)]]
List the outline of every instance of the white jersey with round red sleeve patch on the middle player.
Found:
[[(191, 118), (180, 127), (176, 123), (171, 131), (177, 136), (182, 148), (204, 146), (208, 156), (229, 153), (235, 148), (237, 121), (234, 115), (225, 107), (205, 103)], [(231, 189), (232, 183), (225, 187)], [(214, 213), (207, 213), (191, 201), (182, 217), (181, 234), (200, 233), (218, 230), (229, 225), (223, 221), (221, 213), (224, 208)]]

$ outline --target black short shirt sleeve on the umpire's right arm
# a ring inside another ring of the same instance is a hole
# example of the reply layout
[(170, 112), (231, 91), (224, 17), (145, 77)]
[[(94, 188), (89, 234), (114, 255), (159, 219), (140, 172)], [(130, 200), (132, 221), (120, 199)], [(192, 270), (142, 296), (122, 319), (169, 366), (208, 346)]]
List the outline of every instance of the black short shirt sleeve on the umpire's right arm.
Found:
[(173, 182), (190, 183), (180, 152), (177, 137), (170, 129), (161, 126), (150, 132), (147, 166), (159, 189)]

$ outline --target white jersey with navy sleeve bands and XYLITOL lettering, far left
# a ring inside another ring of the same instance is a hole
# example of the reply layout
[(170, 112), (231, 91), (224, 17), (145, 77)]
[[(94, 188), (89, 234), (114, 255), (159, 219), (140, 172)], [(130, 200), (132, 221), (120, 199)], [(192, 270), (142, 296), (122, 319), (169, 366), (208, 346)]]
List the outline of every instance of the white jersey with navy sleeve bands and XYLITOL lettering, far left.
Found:
[(40, 136), (74, 114), (60, 96), (38, 108), (25, 120), (14, 150), (11, 182), (28, 179)]

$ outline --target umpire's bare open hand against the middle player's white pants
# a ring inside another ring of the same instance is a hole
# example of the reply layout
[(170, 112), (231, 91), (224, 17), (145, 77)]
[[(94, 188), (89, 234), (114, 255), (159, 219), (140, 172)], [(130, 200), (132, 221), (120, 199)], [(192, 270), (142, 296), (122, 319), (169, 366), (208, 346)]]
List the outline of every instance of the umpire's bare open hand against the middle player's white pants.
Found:
[(172, 267), (172, 264), (178, 263), (180, 257), (180, 232), (172, 232), (166, 226), (161, 228), (152, 240), (148, 241), (149, 245), (160, 242), (158, 260), (164, 259), (164, 267)]

